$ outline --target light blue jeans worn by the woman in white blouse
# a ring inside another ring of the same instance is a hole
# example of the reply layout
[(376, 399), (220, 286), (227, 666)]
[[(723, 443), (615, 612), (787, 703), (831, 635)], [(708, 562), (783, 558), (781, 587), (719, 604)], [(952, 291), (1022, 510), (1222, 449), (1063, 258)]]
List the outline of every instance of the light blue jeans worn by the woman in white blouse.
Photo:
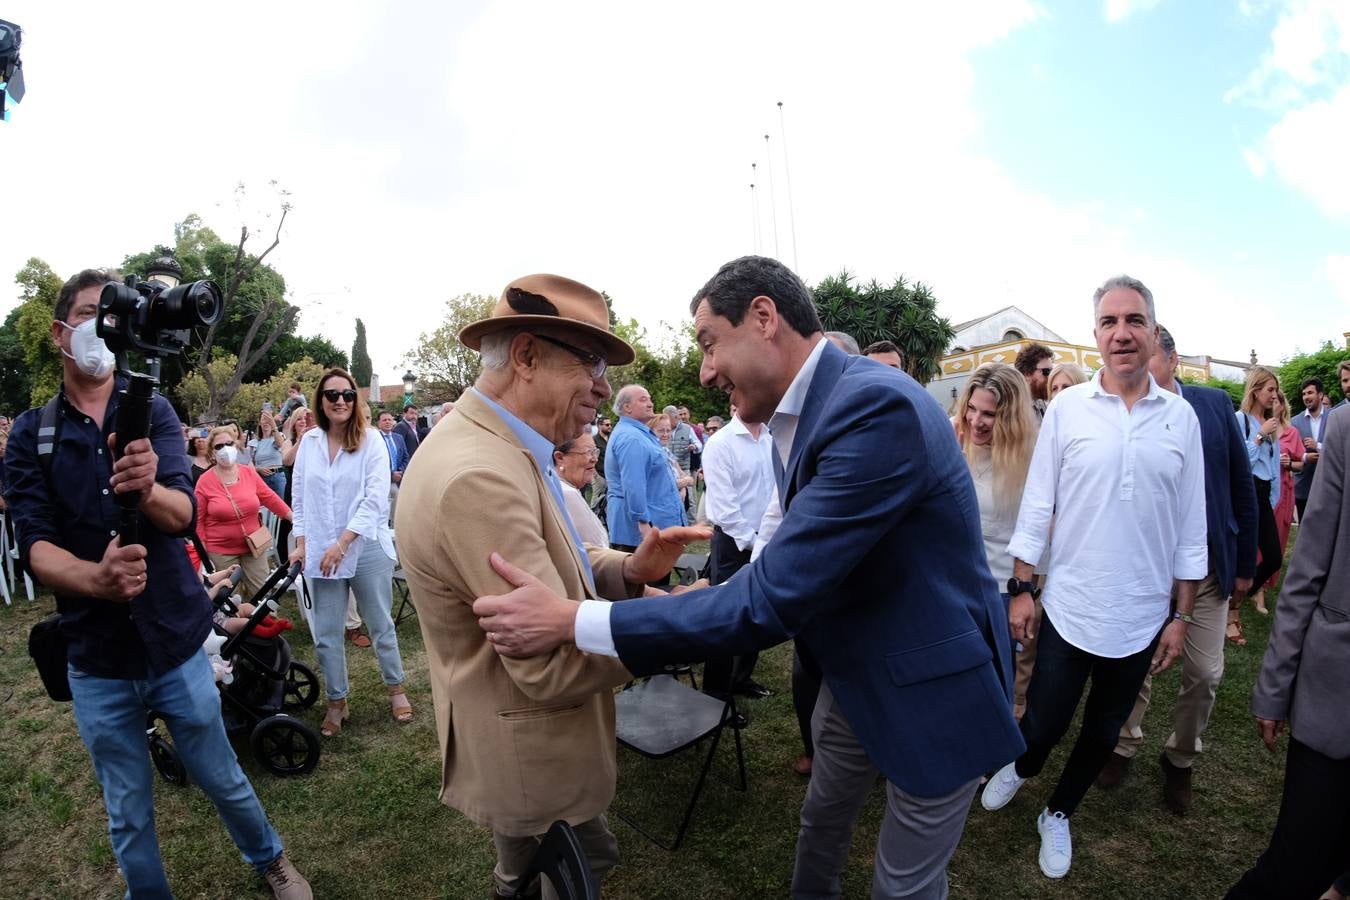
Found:
[(385, 684), (404, 683), (404, 660), (398, 654), (398, 633), (390, 615), (394, 604), (394, 561), (385, 556), (379, 541), (360, 538), (360, 556), (352, 578), (310, 578), (309, 598), (315, 603), (310, 613), (315, 631), (315, 656), (324, 672), (329, 700), (342, 700), (350, 690), (347, 684), (347, 591), (356, 595), (356, 609), (366, 621), (370, 642), (379, 660), (379, 673)]

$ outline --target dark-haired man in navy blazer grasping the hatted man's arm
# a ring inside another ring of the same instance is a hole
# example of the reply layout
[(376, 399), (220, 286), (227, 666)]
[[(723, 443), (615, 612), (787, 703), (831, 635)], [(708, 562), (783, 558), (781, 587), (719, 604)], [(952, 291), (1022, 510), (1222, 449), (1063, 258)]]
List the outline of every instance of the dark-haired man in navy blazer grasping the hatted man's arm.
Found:
[(622, 603), (558, 598), (494, 555), (517, 590), (479, 598), (479, 625), (508, 656), (575, 641), (637, 675), (796, 636), (825, 684), (792, 896), (838, 896), (880, 772), (872, 896), (944, 897), (980, 775), (1023, 749), (1007, 617), (952, 426), (909, 375), (832, 345), (806, 286), (776, 260), (726, 263), (691, 312), (701, 381), (774, 436), (774, 540), (722, 586)]

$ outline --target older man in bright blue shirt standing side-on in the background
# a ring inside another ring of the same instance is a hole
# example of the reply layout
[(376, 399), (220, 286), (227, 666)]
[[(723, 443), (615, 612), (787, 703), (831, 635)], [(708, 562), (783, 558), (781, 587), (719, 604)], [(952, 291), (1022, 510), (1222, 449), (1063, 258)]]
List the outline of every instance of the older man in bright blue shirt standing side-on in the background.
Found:
[(652, 395), (641, 385), (625, 385), (614, 395), (614, 414), (618, 425), (605, 447), (609, 540), (617, 551), (633, 551), (651, 529), (688, 525), (688, 518), (670, 457), (647, 426)]

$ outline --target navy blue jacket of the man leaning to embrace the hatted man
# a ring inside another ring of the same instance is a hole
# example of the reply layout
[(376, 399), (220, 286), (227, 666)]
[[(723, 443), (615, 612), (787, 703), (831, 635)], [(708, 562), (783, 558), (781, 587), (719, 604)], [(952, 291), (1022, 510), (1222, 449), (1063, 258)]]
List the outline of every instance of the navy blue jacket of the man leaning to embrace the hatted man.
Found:
[(826, 345), (779, 495), (778, 533), (728, 583), (613, 606), (624, 664), (651, 673), (796, 636), (899, 788), (941, 796), (1019, 756), (1007, 611), (937, 402)]

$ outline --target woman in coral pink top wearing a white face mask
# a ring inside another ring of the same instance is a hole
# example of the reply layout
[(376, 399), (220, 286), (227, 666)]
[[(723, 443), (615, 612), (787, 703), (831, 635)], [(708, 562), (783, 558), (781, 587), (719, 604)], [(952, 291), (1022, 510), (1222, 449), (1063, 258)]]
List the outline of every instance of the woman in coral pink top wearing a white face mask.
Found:
[(197, 479), (197, 536), (215, 568), (239, 564), (244, 571), (244, 591), (252, 596), (267, 580), (270, 569), (267, 555), (250, 553), (244, 536), (262, 528), (258, 511), (263, 506), (288, 522), (290, 507), (252, 467), (239, 464), (232, 428), (217, 425), (211, 429), (207, 456), (215, 466)]

